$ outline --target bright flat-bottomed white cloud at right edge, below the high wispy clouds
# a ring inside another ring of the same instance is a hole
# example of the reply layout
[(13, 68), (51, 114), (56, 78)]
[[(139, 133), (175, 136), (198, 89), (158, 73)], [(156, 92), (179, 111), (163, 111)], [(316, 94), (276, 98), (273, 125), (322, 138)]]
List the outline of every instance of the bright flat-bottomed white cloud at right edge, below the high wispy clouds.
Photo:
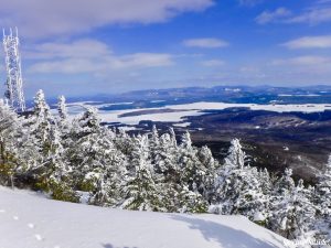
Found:
[(284, 46), (288, 48), (328, 48), (331, 47), (331, 35), (305, 36), (289, 41)]

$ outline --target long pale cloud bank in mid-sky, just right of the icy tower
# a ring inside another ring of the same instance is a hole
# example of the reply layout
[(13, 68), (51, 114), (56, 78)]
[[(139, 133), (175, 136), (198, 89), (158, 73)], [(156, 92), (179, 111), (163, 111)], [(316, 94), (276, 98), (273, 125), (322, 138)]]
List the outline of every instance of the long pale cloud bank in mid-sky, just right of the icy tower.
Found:
[(31, 73), (107, 73), (115, 69), (160, 67), (173, 64), (171, 54), (134, 53), (115, 55), (105, 43), (78, 40), (72, 43), (44, 43), (24, 51), (33, 62)]

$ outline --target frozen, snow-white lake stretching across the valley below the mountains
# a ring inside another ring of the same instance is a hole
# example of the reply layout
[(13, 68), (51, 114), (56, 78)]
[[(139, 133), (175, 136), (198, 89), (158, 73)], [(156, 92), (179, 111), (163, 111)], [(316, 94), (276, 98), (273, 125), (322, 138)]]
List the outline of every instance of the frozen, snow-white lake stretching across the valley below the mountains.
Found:
[[(132, 103), (124, 103), (132, 104)], [(110, 106), (111, 104), (104, 105), (93, 105), (95, 108), (102, 108)], [(68, 105), (68, 111), (71, 115), (76, 115), (84, 111), (84, 108), (89, 106), (88, 103), (75, 103)], [(320, 112), (324, 110), (331, 110), (331, 105), (325, 104), (306, 104), (306, 105), (257, 105), (257, 104), (226, 104), (226, 103), (206, 103), (199, 101), (193, 104), (183, 105), (168, 105), (160, 108), (140, 108), (140, 109), (125, 109), (125, 110), (99, 110), (99, 116), (103, 121), (106, 122), (120, 122), (125, 125), (138, 125), (140, 120), (151, 120), (151, 121), (167, 121), (167, 122), (181, 122), (185, 120), (184, 117), (188, 116), (201, 116), (205, 115), (203, 110), (223, 110), (226, 108), (244, 107), (252, 110), (268, 110), (276, 112)], [(162, 109), (173, 109), (175, 111), (169, 112), (153, 112), (137, 116), (125, 116), (121, 115), (142, 111), (142, 110), (162, 110)]]

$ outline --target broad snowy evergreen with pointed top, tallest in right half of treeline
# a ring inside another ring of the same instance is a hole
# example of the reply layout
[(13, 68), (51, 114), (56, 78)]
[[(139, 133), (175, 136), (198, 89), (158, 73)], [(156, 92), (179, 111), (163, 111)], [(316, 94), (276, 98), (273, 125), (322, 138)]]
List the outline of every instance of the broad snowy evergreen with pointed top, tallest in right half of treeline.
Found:
[(225, 163), (218, 169), (215, 183), (215, 202), (211, 212), (243, 214), (252, 220), (264, 223), (268, 209), (268, 195), (261, 188), (256, 168), (245, 165), (246, 154), (239, 140), (234, 139)]

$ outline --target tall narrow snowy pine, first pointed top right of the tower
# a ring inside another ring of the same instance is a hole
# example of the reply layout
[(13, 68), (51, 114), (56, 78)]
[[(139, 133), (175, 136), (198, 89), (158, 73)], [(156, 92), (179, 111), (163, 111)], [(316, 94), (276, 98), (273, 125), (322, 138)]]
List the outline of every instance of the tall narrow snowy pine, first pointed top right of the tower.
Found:
[(31, 140), (39, 149), (39, 155), (34, 158), (36, 166), (30, 171), (30, 174), (38, 175), (35, 186), (50, 192), (55, 200), (77, 202), (75, 192), (65, 181), (70, 171), (68, 164), (63, 157), (64, 149), (57, 125), (42, 90), (34, 98), (34, 110), (28, 126), (32, 133)]

